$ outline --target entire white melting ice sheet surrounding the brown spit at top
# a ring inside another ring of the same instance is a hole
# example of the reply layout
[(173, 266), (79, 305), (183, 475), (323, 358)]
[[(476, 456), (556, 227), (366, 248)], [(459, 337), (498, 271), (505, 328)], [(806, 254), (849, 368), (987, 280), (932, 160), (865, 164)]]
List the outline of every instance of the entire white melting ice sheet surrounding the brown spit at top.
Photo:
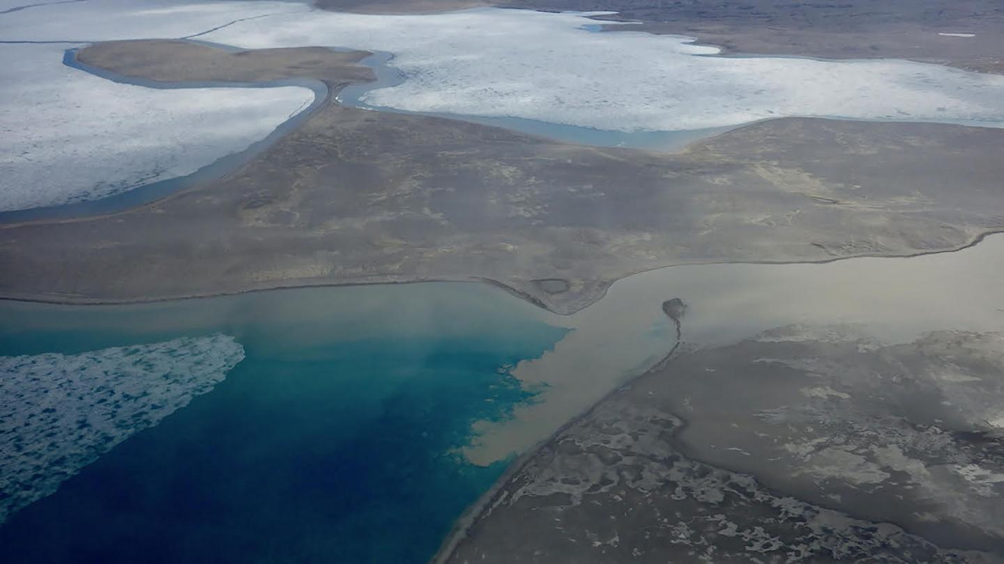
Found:
[(0, 44), (0, 211), (187, 175), (264, 137), (312, 95), (295, 87), (155, 91), (60, 64), (61, 49), (100, 40), (197, 35), (247, 48), (391, 52), (404, 80), (361, 93), (358, 103), (586, 145), (676, 148), (715, 128), (790, 115), (1004, 121), (1004, 76), (903, 60), (711, 56), (717, 48), (685, 37), (596, 33), (587, 15), (358, 15), (290, 2), (167, 0), (0, 14), (0, 41), (77, 42)]

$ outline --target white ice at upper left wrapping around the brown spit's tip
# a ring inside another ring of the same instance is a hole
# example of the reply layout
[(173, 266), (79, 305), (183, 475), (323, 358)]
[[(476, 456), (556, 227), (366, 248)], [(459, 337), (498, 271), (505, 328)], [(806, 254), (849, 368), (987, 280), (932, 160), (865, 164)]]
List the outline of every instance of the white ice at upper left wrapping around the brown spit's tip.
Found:
[(0, 44), (0, 212), (97, 200), (184, 177), (262, 139), (314, 99), (297, 86), (116, 83), (64, 66), (67, 48), (178, 37), (292, 9), (302, 6), (88, 1), (0, 14), (0, 41), (80, 42)]

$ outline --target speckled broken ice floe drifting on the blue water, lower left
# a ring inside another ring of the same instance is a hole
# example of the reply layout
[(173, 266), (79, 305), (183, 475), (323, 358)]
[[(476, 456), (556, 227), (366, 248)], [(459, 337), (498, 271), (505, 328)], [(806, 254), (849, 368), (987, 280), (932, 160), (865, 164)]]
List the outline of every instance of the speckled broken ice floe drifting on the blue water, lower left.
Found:
[(226, 335), (0, 356), (0, 523), (212, 389), (243, 358)]

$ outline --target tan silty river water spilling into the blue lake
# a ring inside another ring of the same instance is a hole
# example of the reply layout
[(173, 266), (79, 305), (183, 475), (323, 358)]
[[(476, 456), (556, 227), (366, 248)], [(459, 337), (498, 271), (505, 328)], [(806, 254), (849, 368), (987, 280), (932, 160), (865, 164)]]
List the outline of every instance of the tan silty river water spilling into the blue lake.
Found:
[[(687, 305), (684, 347), (733, 343), (775, 327), (839, 324), (902, 343), (942, 329), (1004, 330), (1004, 289), (997, 284), (1002, 261), (1004, 235), (990, 235), (959, 251), (909, 258), (682, 265), (622, 278), (567, 318), (574, 330), (553, 351), (516, 366), (517, 379), (545, 391), (517, 406), (512, 418), (480, 425), (465, 453), (487, 465), (525, 452), (659, 363), (677, 344), (661, 307), (665, 300)], [(959, 292), (963, 279), (966, 291)]]

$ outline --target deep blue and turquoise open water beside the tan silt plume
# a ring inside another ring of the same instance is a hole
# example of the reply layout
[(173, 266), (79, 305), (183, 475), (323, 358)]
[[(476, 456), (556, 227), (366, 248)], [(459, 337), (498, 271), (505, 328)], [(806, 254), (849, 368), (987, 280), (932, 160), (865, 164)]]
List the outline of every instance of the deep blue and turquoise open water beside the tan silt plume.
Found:
[(507, 372), (567, 330), (480, 284), (138, 306), (0, 303), (0, 355), (223, 332), (215, 389), (0, 526), (5, 562), (426, 562), (487, 490), (455, 453), (525, 401)]

